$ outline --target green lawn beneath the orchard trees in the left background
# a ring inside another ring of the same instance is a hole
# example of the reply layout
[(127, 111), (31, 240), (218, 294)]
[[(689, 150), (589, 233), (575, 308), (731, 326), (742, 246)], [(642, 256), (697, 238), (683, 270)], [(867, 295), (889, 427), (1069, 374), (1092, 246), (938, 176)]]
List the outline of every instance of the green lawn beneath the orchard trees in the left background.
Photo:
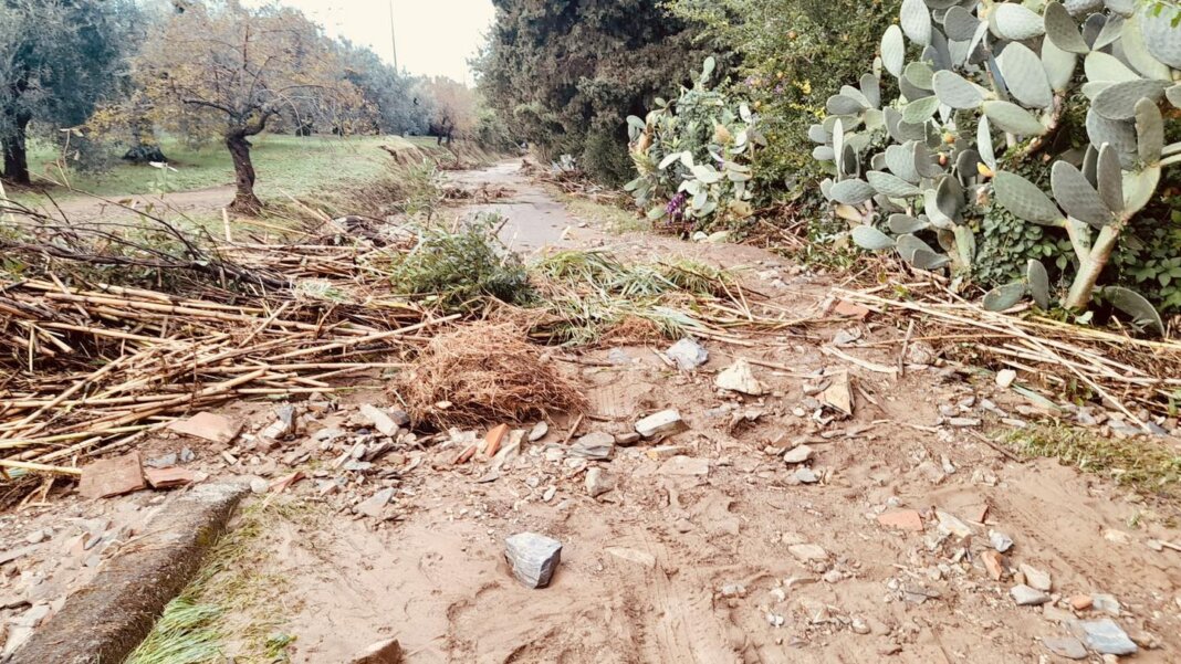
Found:
[[(262, 134), (253, 139), (252, 157), (257, 172), (256, 191), (263, 199), (282, 198), (282, 191), (294, 196), (318, 190), (331, 190), (350, 182), (361, 182), (381, 173), (389, 156), (381, 145), (407, 142), (392, 136), (295, 136)], [(420, 146), (433, 139), (415, 138)], [(193, 150), (165, 138), (161, 142), (164, 155), (171, 159), (176, 172), (150, 165), (135, 165), (118, 160), (105, 172), (72, 172), (66, 177), (73, 189), (104, 197), (156, 193), (162, 191), (194, 191), (234, 183), (234, 165), (229, 152), (220, 144)], [(34, 144), (30, 165), (34, 173), (61, 182), (54, 165), (57, 153), (46, 144)], [(34, 180), (38, 180), (34, 175)], [(40, 183), (46, 180), (39, 179)], [(70, 197), (64, 188), (51, 188), (56, 197)], [(18, 196), (19, 198), (19, 196)]]

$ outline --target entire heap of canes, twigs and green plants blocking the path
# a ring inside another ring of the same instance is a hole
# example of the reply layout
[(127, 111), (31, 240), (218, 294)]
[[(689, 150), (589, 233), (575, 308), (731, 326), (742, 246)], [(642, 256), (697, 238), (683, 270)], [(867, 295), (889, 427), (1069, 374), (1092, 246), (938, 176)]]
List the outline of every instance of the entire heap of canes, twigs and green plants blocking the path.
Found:
[[(782, 313), (756, 316), (736, 280), (697, 263), (628, 265), (602, 250), (526, 265), (497, 239), (496, 218), (444, 222), (419, 210), (235, 241), (150, 213), (73, 223), (7, 212), (17, 219), (2, 238), (0, 283), (0, 467), (9, 474), (77, 475), (80, 459), (183, 413), (357, 387), (424, 348), (415, 369), (444, 382), (419, 387), (461, 403), (449, 415), (466, 408), (470, 421), (490, 421), (579, 407), (560, 396), (505, 409), (496, 395), (463, 406), (466, 396), (445, 383), (458, 379), (430, 367), (442, 356), (431, 337), (459, 321), (520, 347), (517, 360), (530, 356), (526, 338), (724, 338), (731, 324), (781, 324)], [(494, 334), (505, 321), (523, 336)], [(518, 375), (536, 380), (537, 370)]]

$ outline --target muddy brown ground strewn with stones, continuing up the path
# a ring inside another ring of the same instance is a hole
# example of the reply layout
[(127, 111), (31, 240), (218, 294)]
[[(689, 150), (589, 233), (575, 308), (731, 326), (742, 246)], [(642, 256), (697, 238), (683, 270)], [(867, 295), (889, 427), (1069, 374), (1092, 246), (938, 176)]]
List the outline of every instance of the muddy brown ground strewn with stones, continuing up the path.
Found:
[[(926, 366), (929, 357), (912, 356), (905, 376), (894, 379), (823, 354), (835, 334), (856, 330), (861, 340), (846, 353), (893, 366), (896, 346), (859, 344), (899, 331), (873, 316), (827, 313), (829, 280), (774, 255), (583, 228), (515, 163), (457, 180), (515, 191), (495, 209), (510, 219), (503, 237), (524, 252), (606, 245), (637, 259), (684, 254), (745, 267), (750, 285), (791, 317), (821, 323), (746, 344), (706, 341), (710, 361), (694, 373), (670, 369), (654, 353), (663, 348), (648, 347), (603, 348), (581, 363), (562, 362), (592, 413), (574, 432), (566, 419), (550, 422), (550, 433), (526, 445), (498, 478), (488, 481), (487, 459), (452, 466), (455, 447), (410, 449), (379, 462), (398, 471), (386, 480), (397, 493), (380, 522), (348, 513), (351, 501), (379, 488), (380, 480), (371, 480), (325, 499), (340, 511), (315, 527), (276, 526), (268, 572), (291, 579), (285, 611), (286, 631), (298, 637), (294, 662), (347, 662), (390, 637), (410, 664), (1066, 662), (1050, 650), (1058, 645), (1052, 639), (1102, 618), (1140, 645), (1131, 660), (1181, 659), (1181, 553), (1148, 546), (1181, 540), (1175, 506), (1144, 502), (1051, 460), (1014, 462), (946, 422), (953, 412), (1024, 418), (1020, 400)], [(737, 357), (790, 370), (756, 366), (768, 394), (738, 397), (713, 386), (716, 372)], [(817, 415), (807, 394), (815, 381), (800, 376), (818, 369), (853, 376), (853, 418)], [(390, 403), (381, 394), (348, 401)], [(679, 446), (677, 459), (653, 459), (648, 441), (616, 447), (611, 461), (561, 453), (568, 436), (622, 434), (663, 408), (679, 409), (690, 425), (659, 443)], [(266, 422), (261, 405), (230, 412)], [(275, 452), (278, 464), (259, 462), (282, 474), (285, 452), (308, 447), (324, 427), (346, 426), (350, 413), (311, 414), (307, 438)], [(811, 458), (785, 464), (783, 452), (801, 442)], [(184, 445), (211, 480), (266, 474), (248, 455), (226, 467), (220, 448)], [(180, 447), (158, 441), (145, 455)], [(338, 454), (324, 449), (325, 459)], [(596, 499), (585, 486), (594, 466), (615, 482)], [(802, 484), (800, 467), (817, 481)], [(320, 481), (326, 476), (321, 472)], [(319, 500), (318, 486), (305, 481), (293, 493)], [(22, 600), (40, 587), (37, 598), (59, 601), (73, 579), (100, 564), (85, 552), (61, 553), (79, 528), (94, 527), (84, 519), (115, 524), (102, 532), (116, 531), (120, 519), (133, 530), (161, 500), (149, 493), (103, 502), (65, 498), (0, 517), (0, 551), (24, 546), (38, 528), (51, 531), (40, 551), (0, 564), (0, 617), (19, 617), (28, 606), (2, 613), (6, 596)], [(880, 519), (906, 511), (918, 512), (908, 515), (921, 519), (921, 531)], [(504, 538), (522, 531), (563, 544), (547, 589), (520, 585), (504, 561)], [(985, 565), (994, 555), (990, 531), (1014, 543), (1000, 558), (1000, 579)], [(1018, 606), (1010, 589), (1033, 583), (1038, 572), (1050, 576), (1050, 600)], [(1094, 593), (1096, 606), (1071, 607), (1076, 596)], [(1103, 660), (1094, 651), (1083, 658)]]

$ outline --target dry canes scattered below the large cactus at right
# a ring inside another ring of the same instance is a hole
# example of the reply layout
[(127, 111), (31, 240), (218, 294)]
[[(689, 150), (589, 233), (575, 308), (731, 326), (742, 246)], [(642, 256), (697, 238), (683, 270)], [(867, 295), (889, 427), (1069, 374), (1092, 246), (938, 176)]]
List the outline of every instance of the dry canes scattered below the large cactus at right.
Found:
[(914, 340), (968, 350), (997, 368), (1012, 368), (1023, 376), (1022, 383), (1051, 401), (1096, 399), (1142, 428), (1149, 416), (1174, 415), (1172, 408), (1181, 399), (1176, 340), (1074, 326), (1029, 310), (991, 313), (935, 282), (928, 288), (908, 284), (909, 298), (885, 296), (900, 290), (894, 285), (836, 292), (877, 311), (920, 320), (924, 331)]

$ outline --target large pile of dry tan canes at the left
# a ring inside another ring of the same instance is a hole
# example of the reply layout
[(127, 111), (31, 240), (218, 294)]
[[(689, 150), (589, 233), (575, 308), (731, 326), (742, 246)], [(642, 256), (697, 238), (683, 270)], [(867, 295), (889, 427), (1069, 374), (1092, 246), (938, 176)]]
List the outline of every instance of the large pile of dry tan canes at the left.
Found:
[[(327, 393), (455, 316), (383, 294), (355, 248), (236, 245), (292, 287), (197, 296), (48, 280), (0, 281), (0, 472), (78, 474), (196, 408)], [(308, 294), (302, 283), (315, 284)]]

